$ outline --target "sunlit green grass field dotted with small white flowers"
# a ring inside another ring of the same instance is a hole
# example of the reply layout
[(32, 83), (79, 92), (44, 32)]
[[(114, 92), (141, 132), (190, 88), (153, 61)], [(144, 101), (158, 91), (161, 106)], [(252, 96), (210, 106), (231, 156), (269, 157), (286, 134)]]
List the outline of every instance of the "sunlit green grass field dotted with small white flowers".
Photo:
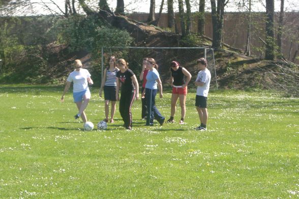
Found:
[[(190, 91), (186, 125), (145, 127), (135, 101), (132, 131), (118, 104), (106, 131), (83, 131), (71, 92), (61, 103), (62, 91), (0, 86), (0, 198), (299, 197), (298, 98), (211, 92), (208, 131), (198, 132)], [(97, 93), (86, 110), (95, 125), (104, 119)], [(166, 119), (170, 96), (157, 98)]]

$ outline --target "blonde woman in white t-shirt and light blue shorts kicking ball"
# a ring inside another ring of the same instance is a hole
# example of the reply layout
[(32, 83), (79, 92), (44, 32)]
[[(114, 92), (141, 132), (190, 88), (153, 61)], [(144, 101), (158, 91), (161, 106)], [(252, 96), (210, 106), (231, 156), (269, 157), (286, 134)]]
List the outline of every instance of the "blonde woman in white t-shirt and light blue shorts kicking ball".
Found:
[(91, 99), (91, 92), (89, 91), (88, 83), (89, 85), (92, 85), (94, 82), (88, 70), (82, 68), (83, 65), (80, 60), (75, 60), (74, 66), (75, 70), (71, 72), (67, 78), (67, 84), (61, 97), (61, 101), (64, 101), (65, 94), (73, 82), (73, 98), (79, 110), (78, 114), (75, 115), (75, 119), (78, 119), (81, 116), (83, 122), (85, 123), (87, 122), (87, 118), (84, 110)]

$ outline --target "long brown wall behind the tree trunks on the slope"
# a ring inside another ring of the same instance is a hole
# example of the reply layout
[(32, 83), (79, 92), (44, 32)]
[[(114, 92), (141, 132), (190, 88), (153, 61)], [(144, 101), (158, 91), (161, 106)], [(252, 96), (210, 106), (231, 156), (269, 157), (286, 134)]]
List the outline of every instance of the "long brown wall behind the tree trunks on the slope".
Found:
[[(277, 14), (278, 15), (278, 14)], [(157, 16), (157, 15), (156, 15)], [(146, 21), (148, 14), (135, 13), (130, 14), (128, 17), (137, 21)], [(180, 30), (180, 21), (178, 20), (178, 14), (175, 14), (175, 20), (178, 29)], [(276, 17), (278, 18), (278, 17)], [(282, 38), (282, 53), (286, 59), (292, 60), (295, 50), (298, 49), (299, 41), (299, 12), (285, 13), (285, 32)], [(251, 50), (255, 56), (264, 56), (264, 50), (260, 50), (263, 46), (263, 42), (259, 37), (265, 40), (265, 20), (264, 13), (252, 13), (252, 40)], [(236, 48), (245, 49), (247, 39), (247, 25), (245, 13), (225, 13), (224, 15), (224, 29), (223, 29), (223, 41), (228, 45)], [(162, 28), (167, 27), (167, 14), (161, 15), (159, 26)], [(192, 32), (197, 32), (197, 17), (193, 16)], [(212, 38), (212, 19), (211, 13), (205, 14), (205, 35)], [(289, 53), (290, 52), (290, 53)], [(299, 54), (297, 54), (299, 56)], [(299, 60), (295, 63), (299, 64)]]

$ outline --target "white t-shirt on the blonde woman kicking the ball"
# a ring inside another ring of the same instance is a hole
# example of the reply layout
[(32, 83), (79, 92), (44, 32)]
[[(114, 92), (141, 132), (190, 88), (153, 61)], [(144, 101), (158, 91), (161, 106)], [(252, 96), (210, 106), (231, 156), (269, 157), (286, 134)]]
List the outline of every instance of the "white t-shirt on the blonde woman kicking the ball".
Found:
[(82, 91), (89, 90), (87, 78), (92, 75), (88, 72), (88, 70), (81, 68), (80, 71), (74, 70), (71, 72), (67, 78), (67, 81), (73, 82), (73, 93), (79, 93)]

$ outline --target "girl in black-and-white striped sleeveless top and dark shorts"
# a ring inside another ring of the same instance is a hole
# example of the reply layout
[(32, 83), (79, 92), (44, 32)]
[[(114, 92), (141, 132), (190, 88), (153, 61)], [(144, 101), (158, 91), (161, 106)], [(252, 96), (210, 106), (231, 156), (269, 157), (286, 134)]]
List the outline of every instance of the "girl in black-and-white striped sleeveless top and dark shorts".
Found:
[(110, 123), (114, 123), (113, 117), (115, 113), (115, 92), (116, 92), (116, 72), (119, 69), (116, 67), (115, 56), (110, 56), (109, 58), (109, 67), (104, 69), (104, 74), (101, 83), (101, 89), (99, 92), (99, 96), (102, 97), (102, 91), (104, 90), (104, 99), (105, 99), (105, 122), (108, 122), (109, 117), (109, 101), (111, 101), (111, 115), (110, 115)]

